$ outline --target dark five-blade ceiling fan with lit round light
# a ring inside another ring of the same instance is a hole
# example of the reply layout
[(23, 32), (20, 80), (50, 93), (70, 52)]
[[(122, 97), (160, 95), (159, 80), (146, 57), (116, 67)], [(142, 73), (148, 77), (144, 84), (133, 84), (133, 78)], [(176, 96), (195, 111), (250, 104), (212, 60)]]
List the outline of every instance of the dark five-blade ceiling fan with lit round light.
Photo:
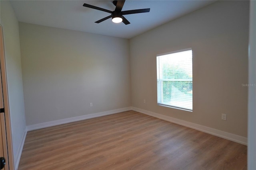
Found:
[(102, 18), (101, 20), (96, 21), (96, 23), (100, 23), (104, 20), (107, 20), (108, 18), (112, 17), (112, 21), (115, 23), (119, 23), (119, 22), (124, 22), (124, 24), (130, 24), (130, 22), (124, 18), (123, 15), (127, 15), (127, 14), (138, 14), (138, 13), (144, 13), (144, 12), (149, 12), (150, 8), (146, 8), (146, 9), (139, 9), (139, 10), (128, 10), (128, 11), (122, 11), (122, 8), (124, 6), (124, 2), (125, 0), (114, 0), (113, 4), (114, 6), (116, 6), (116, 9), (114, 11), (110, 11), (110, 10), (106, 10), (104, 8), (100, 8), (97, 6), (93, 6), (90, 4), (84, 4), (83, 6), (88, 7), (88, 8), (93, 8), (96, 10), (100, 10), (100, 11), (104, 11), (104, 12), (108, 12), (111, 15), (107, 16), (105, 18)]

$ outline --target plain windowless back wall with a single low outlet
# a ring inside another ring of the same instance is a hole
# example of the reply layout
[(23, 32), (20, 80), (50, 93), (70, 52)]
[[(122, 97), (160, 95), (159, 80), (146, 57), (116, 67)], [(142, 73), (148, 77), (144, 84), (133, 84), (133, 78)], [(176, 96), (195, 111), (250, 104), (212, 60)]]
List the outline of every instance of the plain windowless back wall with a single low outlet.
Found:
[(128, 40), (19, 26), (27, 125), (131, 106)]

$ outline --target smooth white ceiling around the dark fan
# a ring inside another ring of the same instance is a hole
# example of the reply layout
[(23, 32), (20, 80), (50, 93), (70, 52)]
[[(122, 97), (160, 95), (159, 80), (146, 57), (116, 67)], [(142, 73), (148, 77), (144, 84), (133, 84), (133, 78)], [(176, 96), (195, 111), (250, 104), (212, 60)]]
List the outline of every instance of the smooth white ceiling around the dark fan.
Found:
[(84, 3), (113, 11), (112, 0), (11, 0), (20, 22), (64, 28), (120, 38), (132, 38), (215, 0), (126, 0), (122, 10), (150, 8), (150, 12), (125, 15), (131, 23), (115, 24), (111, 18), (94, 23), (109, 13), (82, 6)]

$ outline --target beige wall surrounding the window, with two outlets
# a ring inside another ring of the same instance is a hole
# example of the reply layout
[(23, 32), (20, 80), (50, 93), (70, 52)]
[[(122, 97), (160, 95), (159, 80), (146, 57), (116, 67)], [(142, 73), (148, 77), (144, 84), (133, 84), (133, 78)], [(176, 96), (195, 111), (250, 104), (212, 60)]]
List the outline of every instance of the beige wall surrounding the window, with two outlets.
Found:
[[(248, 17), (248, 1), (219, 1), (132, 38), (132, 106), (246, 137)], [(193, 112), (157, 105), (156, 55), (185, 48), (193, 51)]]

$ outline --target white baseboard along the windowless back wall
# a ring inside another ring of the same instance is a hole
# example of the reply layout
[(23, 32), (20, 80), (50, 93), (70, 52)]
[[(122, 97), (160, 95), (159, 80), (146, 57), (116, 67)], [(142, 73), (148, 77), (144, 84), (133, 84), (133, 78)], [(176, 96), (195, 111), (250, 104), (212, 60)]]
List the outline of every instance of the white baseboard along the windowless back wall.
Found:
[(76, 117), (72, 117), (72, 118), (54, 120), (54, 121), (44, 122), (44, 123), (39, 123), (39, 124), (32, 124), (32, 125), (27, 126), (27, 130), (30, 131), (30, 130), (36, 130), (36, 129), (41, 129), (41, 128), (47, 128), (47, 127), (50, 127), (50, 126), (56, 126), (56, 125), (60, 125), (60, 124), (76, 122), (76, 121), (79, 121), (79, 120), (96, 118), (96, 117), (105, 116), (105, 115), (109, 115), (109, 114), (125, 112), (125, 111), (128, 111), (128, 110), (132, 110), (131, 107), (109, 110), (109, 111), (106, 111), (106, 112), (86, 114), (86, 115), (83, 115), (83, 116), (76, 116)]

